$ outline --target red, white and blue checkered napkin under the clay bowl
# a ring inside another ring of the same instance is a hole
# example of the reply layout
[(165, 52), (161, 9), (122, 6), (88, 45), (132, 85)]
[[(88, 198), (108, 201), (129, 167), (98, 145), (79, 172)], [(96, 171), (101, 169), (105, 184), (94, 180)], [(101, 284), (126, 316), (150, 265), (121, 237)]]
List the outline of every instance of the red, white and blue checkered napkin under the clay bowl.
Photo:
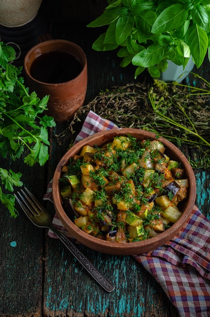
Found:
[[(90, 111), (75, 143), (102, 130), (117, 128)], [(44, 199), (51, 200), (52, 186)], [(64, 234), (57, 214), (53, 224)], [(49, 231), (51, 237), (56, 237)], [(70, 237), (70, 236), (69, 236)], [(154, 276), (182, 317), (210, 316), (210, 222), (196, 206), (182, 230), (168, 243), (134, 258)]]

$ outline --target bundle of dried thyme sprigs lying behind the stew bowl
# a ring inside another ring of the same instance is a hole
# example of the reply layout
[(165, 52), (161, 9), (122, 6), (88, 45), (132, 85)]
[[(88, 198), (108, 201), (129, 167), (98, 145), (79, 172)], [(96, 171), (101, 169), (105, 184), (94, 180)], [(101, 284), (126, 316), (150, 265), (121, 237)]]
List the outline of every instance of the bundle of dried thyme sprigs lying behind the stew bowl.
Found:
[(73, 131), (75, 122), (82, 121), (93, 110), (120, 128), (148, 130), (178, 146), (199, 147), (203, 155), (191, 164), (207, 168), (210, 166), (210, 85), (201, 79), (201, 88), (157, 80), (152, 86), (132, 83), (113, 87), (80, 108), (68, 129)]

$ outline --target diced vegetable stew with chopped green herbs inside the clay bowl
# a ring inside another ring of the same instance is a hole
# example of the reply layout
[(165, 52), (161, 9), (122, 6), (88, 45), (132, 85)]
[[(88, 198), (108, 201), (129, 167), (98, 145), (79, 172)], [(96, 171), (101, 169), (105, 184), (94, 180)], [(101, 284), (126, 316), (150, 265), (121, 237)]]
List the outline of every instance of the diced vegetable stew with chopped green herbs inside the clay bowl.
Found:
[(74, 224), (98, 239), (135, 243), (155, 237), (182, 216), (189, 180), (157, 139), (119, 135), (86, 144), (62, 167), (60, 193)]

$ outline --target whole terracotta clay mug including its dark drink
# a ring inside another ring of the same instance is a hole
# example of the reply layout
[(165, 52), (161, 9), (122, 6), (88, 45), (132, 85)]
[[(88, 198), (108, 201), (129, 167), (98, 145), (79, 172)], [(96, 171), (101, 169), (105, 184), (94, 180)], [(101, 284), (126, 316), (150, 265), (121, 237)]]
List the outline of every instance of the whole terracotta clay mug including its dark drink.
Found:
[(30, 92), (39, 98), (50, 95), (46, 114), (57, 123), (69, 121), (84, 103), (87, 84), (87, 58), (75, 43), (52, 39), (31, 48), (24, 58)]

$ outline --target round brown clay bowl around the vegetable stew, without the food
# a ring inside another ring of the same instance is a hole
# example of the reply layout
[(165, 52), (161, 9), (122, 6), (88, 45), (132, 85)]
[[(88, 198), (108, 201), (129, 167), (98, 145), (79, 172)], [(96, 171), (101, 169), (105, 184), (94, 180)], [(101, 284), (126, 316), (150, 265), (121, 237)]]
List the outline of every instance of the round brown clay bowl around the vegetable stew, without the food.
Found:
[(172, 239), (176, 235), (176, 233), (178, 233), (178, 231), (183, 227), (183, 225), (187, 222), (188, 218), (190, 217), (196, 197), (195, 176), (187, 158), (174, 144), (172, 144), (170, 141), (167, 141), (162, 137), (159, 137), (158, 140), (162, 142), (166, 148), (165, 154), (168, 155), (170, 159), (179, 161), (181, 163), (182, 167), (186, 171), (186, 176), (189, 180), (188, 198), (185, 200), (185, 202), (183, 202), (183, 205), (179, 207), (180, 211), (182, 212), (182, 216), (179, 218), (179, 220), (175, 224), (173, 224), (169, 229), (165, 230), (164, 232), (160, 233), (155, 237), (152, 237), (144, 241), (125, 244), (100, 240), (94, 236), (87, 234), (86, 232), (83, 232), (80, 228), (78, 228), (68, 218), (67, 214), (62, 208), (62, 199), (60, 195), (59, 186), (59, 179), (61, 177), (62, 167), (64, 165), (67, 165), (70, 157), (75, 154), (78, 154), (84, 145), (94, 146), (97, 144), (101, 146), (107, 142), (112, 141), (113, 138), (116, 136), (126, 136), (128, 134), (136, 137), (138, 140), (155, 139), (154, 133), (139, 129), (114, 129), (96, 133), (78, 142), (66, 152), (66, 154), (62, 157), (61, 161), (59, 162), (53, 177), (53, 201), (56, 212), (66, 230), (70, 232), (75, 237), (75, 239), (77, 239), (81, 244), (96, 251), (113, 255), (141, 254), (144, 252), (154, 250), (157, 247), (160, 247), (166, 242), (170, 241), (170, 239)]

